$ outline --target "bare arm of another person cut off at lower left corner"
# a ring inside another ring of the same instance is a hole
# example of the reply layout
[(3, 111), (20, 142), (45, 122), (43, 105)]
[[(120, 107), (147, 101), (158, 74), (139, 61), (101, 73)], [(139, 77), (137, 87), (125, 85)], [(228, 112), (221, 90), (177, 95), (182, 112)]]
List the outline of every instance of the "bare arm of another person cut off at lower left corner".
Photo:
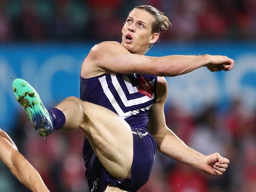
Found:
[(11, 138), (0, 129), (0, 159), (19, 181), (33, 192), (48, 192), (41, 176), (19, 153)]

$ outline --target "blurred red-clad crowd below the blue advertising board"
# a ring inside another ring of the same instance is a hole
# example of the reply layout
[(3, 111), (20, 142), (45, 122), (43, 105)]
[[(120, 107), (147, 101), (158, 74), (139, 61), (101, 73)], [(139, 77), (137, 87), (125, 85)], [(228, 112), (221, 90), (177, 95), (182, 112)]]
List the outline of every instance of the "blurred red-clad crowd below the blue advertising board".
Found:
[[(219, 152), (230, 159), (229, 167), (222, 176), (211, 176), (158, 153), (150, 180), (139, 192), (255, 192), (256, 110), (249, 111), (234, 99), (225, 111), (209, 105), (194, 115), (168, 106), (165, 115), (167, 126), (184, 142), (204, 155)], [(15, 119), (11, 137), (51, 192), (88, 191), (80, 130), (57, 130), (42, 138), (23, 111)], [(16, 188), (5, 192), (28, 191), (14, 180)]]

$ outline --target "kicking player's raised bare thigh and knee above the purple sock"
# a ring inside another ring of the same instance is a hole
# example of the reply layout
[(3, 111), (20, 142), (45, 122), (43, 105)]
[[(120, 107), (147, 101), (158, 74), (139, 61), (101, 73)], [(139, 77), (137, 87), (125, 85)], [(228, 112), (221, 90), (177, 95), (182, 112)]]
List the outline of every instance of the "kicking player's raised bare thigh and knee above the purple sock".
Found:
[(104, 168), (117, 179), (130, 178), (133, 137), (130, 126), (112, 111), (76, 97), (59, 103), (66, 117), (63, 131), (78, 127), (89, 139)]

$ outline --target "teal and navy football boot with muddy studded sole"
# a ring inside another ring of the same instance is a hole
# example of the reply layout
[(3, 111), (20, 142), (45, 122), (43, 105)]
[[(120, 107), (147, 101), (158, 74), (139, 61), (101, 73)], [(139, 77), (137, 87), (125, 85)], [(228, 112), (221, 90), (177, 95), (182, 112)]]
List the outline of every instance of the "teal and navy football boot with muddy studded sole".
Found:
[(15, 79), (13, 81), (13, 92), (17, 101), (25, 109), (28, 118), (35, 127), (35, 131), (42, 137), (52, 133), (54, 128), (51, 116), (36, 90), (25, 80)]

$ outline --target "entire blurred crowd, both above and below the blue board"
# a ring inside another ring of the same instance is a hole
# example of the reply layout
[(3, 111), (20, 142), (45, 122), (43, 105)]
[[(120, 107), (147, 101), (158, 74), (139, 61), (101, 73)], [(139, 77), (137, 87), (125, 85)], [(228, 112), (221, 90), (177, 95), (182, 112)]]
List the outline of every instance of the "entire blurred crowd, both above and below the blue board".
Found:
[[(160, 41), (256, 40), (256, 0), (0, 0), (0, 42), (119, 41), (129, 11), (143, 4), (157, 7), (172, 23)], [(214, 177), (158, 153), (139, 192), (256, 191), (256, 109), (234, 99), (225, 110), (209, 105), (193, 114), (173, 105), (165, 115), (186, 144), (205, 155), (221, 153), (229, 168)], [(42, 138), (24, 111), (13, 118), (9, 135), (51, 192), (88, 191), (80, 130)], [(2, 191), (28, 191), (3, 164), (0, 170)]]

